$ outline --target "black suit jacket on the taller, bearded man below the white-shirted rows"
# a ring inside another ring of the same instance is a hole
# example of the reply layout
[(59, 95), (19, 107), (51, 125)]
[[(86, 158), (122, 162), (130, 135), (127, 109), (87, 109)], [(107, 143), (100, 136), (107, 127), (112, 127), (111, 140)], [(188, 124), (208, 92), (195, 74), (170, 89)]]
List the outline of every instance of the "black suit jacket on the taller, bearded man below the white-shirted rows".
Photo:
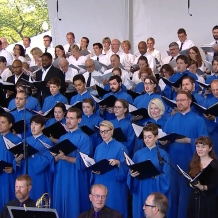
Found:
[[(45, 76), (44, 81), (50, 81), (54, 77), (59, 78), (61, 80), (60, 92), (64, 93), (66, 90), (64, 73), (60, 69), (58, 69), (54, 66), (51, 66), (51, 68), (49, 69), (49, 71), (47, 72), (47, 74)], [(36, 72), (36, 81), (42, 81), (42, 70), (38, 70)], [(44, 99), (46, 97), (48, 97), (49, 95), (51, 95), (49, 87), (43, 87), (41, 90), (37, 91), (37, 98), (40, 102), (43, 102)], [(41, 97), (42, 97), (42, 99), (41, 99)]]

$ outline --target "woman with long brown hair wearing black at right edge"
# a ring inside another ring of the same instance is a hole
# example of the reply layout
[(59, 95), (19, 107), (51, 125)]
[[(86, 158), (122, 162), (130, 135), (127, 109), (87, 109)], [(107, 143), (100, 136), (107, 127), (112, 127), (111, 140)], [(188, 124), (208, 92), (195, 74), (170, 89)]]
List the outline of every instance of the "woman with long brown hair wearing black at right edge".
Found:
[(197, 214), (199, 218), (217, 218), (218, 160), (209, 137), (197, 138), (195, 145), (196, 152), (189, 165), (189, 175), (195, 178), (206, 167), (209, 167), (209, 170), (192, 185), (195, 189), (192, 189), (189, 196), (187, 218), (196, 217)]

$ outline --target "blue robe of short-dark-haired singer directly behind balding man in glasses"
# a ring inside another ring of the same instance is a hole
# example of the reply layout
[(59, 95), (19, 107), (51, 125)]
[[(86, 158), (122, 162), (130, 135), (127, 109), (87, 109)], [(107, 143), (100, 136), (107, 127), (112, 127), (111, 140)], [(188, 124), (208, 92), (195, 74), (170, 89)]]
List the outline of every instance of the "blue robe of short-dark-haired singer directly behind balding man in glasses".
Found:
[[(168, 154), (163, 149), (159, 149), (159, 151), (161, 157), (169, 161)], [(131, 194), (133, 195), (133, 218), (144, 217), (144, 211), (142, 210), (142, 207), (144, 205), (146, 198), (152, 192), (161, 192), (164, 195), (166, 195), (169, 205), (170, 207), (172, 207), (170, 193), (170, 187), (172, 185), (170, 182), (170, 166), (165, 162), (163, 162), (162, 166), (159, 164), (156, 146), (151, 150), (148, 147), (144, 147), (137, 151), (133, 156), (134, 163), (140, 163), (146, 160), (150, 160), (154, 164), (154, 166), (159, 170), (160, 175), (156, 176), (155, 178), (139, 180), (138, 178), (132, 177), (130, 173), (128, 173), (127, 184)]]

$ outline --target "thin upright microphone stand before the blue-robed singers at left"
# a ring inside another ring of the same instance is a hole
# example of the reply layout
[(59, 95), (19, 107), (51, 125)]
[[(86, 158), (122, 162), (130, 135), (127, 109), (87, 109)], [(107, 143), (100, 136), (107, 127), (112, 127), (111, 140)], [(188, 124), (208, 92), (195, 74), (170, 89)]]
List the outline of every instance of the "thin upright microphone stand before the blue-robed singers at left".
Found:
[(28, 175), (28, 144), (26, 143), (26, 101), (27, 101), (27, 91), (29, 86), (22, 85), (24, 87), (25, 94), (25, 104), (24, 104), (24, 131), (23, 131), (23, 151), (25, 159), (25, 173)]

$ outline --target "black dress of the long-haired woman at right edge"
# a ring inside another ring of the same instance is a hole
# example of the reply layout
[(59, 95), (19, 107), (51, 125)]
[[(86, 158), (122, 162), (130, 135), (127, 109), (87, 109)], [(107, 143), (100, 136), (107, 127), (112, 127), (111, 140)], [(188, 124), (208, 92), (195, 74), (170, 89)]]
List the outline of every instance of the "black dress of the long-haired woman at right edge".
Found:
[[(218, 218), (216, 188), (218, 185), (218, 161), (212, 160), (210, 165), (213, 171), (207, 175), (207, 178), (200, 179), (202, 185), (207, 186), (207, 191), (199, 195), (198, 204), (200, 205), (199, 218)], [(187, 218), (196, 216), (196, 192), (192, 189), (189, 196)]]

